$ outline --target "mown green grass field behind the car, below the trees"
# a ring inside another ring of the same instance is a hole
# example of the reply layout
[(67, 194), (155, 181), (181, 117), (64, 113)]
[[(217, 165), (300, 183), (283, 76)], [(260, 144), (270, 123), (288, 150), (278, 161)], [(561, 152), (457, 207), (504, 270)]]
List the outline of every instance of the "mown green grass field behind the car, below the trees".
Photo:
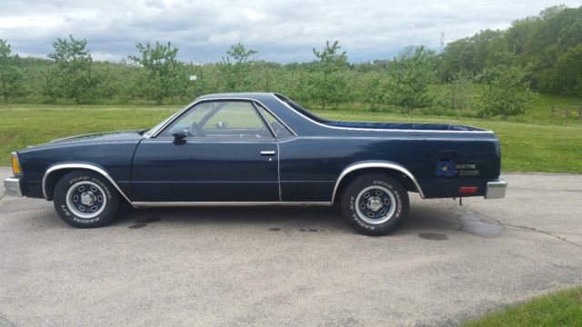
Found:
[[(511, 172), (582, 173), (582, 118), (550, 117), (552, 103), (572, 100), (540, 96), (522, 117), (501, 119), (370, 112), (361, 109), (315, 110), (326, 118), (348, 121), (470, 124), (496, 132), (502, 169)], [(151, 127), (179, 106), (0, 105), (0, 164), (29, 144), (58, 137)]]

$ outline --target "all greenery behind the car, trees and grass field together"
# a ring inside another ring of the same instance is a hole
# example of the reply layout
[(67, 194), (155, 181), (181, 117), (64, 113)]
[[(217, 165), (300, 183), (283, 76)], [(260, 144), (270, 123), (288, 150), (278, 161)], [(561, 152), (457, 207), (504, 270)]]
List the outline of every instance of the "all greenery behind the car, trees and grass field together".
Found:
[(476, 125), (499, 136), (504, 171), (582, 173), (582, 7), (358, 64), (338, 42), (290, 64), (241, 44), (209, 64), (178, 60), (170, 43), (117, 63), (72, 35), (52, 45), (48, 59), (22, 58), (0, 40), (0, 164), (27, 144), (152, 126), (200, 94), (265, 91), (331, 119)]

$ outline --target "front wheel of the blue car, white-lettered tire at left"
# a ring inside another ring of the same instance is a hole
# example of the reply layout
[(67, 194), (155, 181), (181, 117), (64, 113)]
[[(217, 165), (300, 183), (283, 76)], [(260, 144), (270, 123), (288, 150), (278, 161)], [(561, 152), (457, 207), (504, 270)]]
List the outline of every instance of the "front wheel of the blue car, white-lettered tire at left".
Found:
[(119, 195), (109, 181), (98, 173), (66, 173), (53, 194), (56, 213), (65, 223), (77, 228), (101, 227), (117, 212)]

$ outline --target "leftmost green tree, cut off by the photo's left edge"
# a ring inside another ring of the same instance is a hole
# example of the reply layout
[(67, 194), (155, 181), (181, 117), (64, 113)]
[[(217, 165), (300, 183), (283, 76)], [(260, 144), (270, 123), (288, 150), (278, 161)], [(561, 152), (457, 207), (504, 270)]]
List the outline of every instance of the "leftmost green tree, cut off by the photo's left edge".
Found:
[(6, 40), (0, 39), (0, 92), (4, 102), (13, 96), (24, 96), (28, 92), (25, 88), (24, 75), (16, 65), (17, 55), (12, 54)]

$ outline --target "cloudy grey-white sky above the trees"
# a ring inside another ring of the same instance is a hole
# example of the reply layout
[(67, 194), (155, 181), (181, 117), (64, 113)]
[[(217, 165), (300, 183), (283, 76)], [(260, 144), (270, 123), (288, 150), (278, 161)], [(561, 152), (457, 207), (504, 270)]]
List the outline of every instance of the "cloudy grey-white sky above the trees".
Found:
[(120, 61), (138, 43), (171, 42), (178, 58), (208, 63), (230, 45), (256, 59), (312, 61), (339, 41), (352, 63), (390, 59), (406, 45), (440, 49), (484, 29), (505, 29), (552, 5), (582, 0), (0, 0), (0, 38), (21, 56), (46, 57), (58, 37), (85, 38), (95, 60)]

